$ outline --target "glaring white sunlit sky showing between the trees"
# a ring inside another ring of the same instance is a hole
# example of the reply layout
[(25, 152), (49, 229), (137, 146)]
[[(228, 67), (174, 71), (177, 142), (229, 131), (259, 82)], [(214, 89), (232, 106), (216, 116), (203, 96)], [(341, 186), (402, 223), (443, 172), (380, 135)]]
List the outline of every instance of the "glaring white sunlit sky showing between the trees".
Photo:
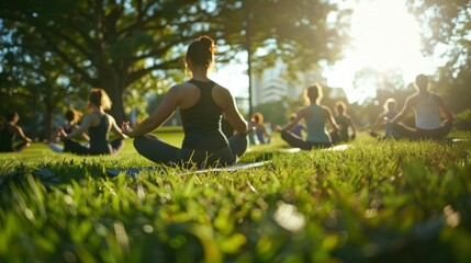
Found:
[[(354, 9), (351, 48), (345, 58), (326, 68), (323, 76), (327, 85), (343, 88), (350, 103), (362, 103), (375, 95), (371, 87), (356, 92), (355, 72), (363, 67), (379, 70), (401, 68), (404, 83), (414, 81), (418, 73), (431, 75), (444, 64), (438, 56), (426, 58), (420, 53), (420, 30), (414, 16), (407, 13), (405, 0), (360, 0)], [(442, 53), (445, 47), (438, 47)], [(244, 60), (242, 55), (242, 60)], [(234, 96), (248, 96), (247, 66), (233, 62), (216, 68), (213, 79), (231, 90)]]

